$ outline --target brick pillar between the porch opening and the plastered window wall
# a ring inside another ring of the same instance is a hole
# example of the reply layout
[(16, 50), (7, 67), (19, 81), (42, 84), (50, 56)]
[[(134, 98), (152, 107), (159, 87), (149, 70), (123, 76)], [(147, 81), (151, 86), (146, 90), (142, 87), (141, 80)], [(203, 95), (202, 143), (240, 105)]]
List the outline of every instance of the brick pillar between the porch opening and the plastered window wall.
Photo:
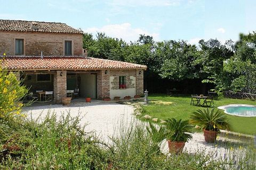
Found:
[(110, 82), (109, 75), (110, 70), (99, 70), (97, 73), (97, 98), (100, 99), (102, 97), (110, 96)]

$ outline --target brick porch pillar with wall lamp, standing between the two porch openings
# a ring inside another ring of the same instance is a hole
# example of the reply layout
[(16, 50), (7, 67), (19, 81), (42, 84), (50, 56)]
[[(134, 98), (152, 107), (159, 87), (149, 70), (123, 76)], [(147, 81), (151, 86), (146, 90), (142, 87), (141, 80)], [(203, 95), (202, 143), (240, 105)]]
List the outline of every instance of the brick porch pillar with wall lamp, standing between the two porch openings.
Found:
[(57, 104), (61, 103), (62, 97), (67, 97), (67, 71), (56, 71), (56, 74), (54, 74), (53, 97), (54, 103)]

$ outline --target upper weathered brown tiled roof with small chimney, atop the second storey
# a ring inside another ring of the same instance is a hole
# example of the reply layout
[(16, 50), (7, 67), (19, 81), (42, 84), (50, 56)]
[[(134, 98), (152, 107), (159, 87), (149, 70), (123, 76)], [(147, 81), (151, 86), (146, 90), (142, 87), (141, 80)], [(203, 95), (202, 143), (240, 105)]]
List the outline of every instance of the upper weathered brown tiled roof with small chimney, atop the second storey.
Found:
[[(31, 27), (37, 24), (37, 29)], [(20, 20), (0, 20), (0, 31), (21, 31), (21, 32), (54, 32), (54, 33), (83, 33), (83, 31), (74, 29), (66, 23), (60, 22), (38, 22), (38, 21), (20, 21)]]

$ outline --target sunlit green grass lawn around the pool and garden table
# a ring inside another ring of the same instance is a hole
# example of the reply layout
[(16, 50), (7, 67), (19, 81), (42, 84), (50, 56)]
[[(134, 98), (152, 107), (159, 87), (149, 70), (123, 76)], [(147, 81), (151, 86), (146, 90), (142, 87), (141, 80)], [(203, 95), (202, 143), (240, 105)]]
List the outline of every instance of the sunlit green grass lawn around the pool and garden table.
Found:
[[(199, 106), (190, 106), (190, 97), (169, 97), (162, 94), (150, 95), (149, 99), (156, 101), (169, 101), (173, 102), (170, 105), (165, 104), (149, 104), (145, 106), (146, 114), (153, 118), (166, 119), (166, 118), (182, 118), (188, 120), (191, 113), (197, 109), (202, 109)], [(217, 109), (219, 106), (229, 104), (248, 104), (256, 105), (256, 101), (221, 98), (214, 100), (214, 107)], [(222, 110), (221, 110), (222, 111)], [(223, 112), (223, 111), (222, 111)], [(256, 117), (241, 117), (228, 115), (230, 123), (230, 130), (239, 133), (256, 134)]]

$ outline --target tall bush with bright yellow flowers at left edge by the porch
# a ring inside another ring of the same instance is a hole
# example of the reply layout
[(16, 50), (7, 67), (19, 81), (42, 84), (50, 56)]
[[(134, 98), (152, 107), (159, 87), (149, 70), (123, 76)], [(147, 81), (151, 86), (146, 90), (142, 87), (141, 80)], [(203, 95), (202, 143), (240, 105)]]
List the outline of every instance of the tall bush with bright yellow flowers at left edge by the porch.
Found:
[(22, 103), (19, 100), (26, 93), (27, 89), (20, 86), (14, 73), (0, 67), (0, 120), (21, 115)]

